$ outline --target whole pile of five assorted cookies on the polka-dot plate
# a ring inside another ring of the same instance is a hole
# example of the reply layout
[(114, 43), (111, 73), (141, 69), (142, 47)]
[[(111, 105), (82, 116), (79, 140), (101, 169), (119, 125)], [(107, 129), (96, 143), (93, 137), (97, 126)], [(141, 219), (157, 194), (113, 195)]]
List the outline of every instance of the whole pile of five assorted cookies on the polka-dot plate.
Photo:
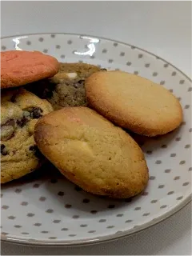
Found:
[(0, 86), (26, 89), (0, 94), (0, 182), (37, 169), (44, 155), (92, 194), (129, 198), (142, 192), (149, 178), (146, 160), (125, 130), (152, 137), (176, 129), (182, 122), (177, 98), (134, 74), (59, 64), (36, 52), (11, 52), (20, 66), (9, 66), (8, 73), (9, 54)]

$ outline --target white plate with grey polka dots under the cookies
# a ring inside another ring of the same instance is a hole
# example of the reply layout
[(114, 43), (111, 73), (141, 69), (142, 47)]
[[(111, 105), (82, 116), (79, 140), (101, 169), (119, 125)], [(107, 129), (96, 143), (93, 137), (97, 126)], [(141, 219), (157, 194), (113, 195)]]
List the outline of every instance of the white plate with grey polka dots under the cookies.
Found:
[[(150, 170), (136, 198), (96, 197), (68, 182), (53, 166), (0, 186), (0, 239), (38, 246), (109, 241), (144, 230), (192, 199), (192, 82), (162, 58), (122, 42), (77, 34), (32, 34), (0, 40), (1, 50), (39, 50), (60, 62), (88, 62), (125, 70), (172, 91), (184, 112), (182, 126), (142, 140)], [(118, 87), (117, 87), (118, 90)]]

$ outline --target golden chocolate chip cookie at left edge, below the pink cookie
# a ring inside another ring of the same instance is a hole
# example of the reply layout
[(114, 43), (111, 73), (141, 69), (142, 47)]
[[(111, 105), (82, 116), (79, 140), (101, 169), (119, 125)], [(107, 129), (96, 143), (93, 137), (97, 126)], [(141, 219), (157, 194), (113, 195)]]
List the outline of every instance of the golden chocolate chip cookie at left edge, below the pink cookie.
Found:
[(52, 110), (49, 102), (22, 88), (0, 93), (0, 183), (42, 165), (44, 157), (34, 142), (34, 126)]

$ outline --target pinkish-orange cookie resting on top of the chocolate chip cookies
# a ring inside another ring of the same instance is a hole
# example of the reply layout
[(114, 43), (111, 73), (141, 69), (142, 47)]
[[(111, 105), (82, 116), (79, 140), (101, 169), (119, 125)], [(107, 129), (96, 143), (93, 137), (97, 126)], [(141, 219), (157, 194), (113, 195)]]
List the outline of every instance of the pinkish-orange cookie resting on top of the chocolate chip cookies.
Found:
[(0, 52), (0, 89), (50, 78), (58, 72), (58, 67), (56, 58), (38, 51)]

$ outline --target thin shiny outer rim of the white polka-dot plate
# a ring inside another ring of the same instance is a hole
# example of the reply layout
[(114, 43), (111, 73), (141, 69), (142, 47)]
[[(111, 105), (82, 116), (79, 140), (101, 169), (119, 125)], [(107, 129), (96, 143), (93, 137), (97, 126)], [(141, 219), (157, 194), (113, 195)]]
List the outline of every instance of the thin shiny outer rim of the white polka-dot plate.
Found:
[[(157, 54), (153, 54), (148, 50), (142, 49), (141, 47), (134, 46), (130, 43), (118, 41), (116, 39), (112, 38), (105, 38), (101, 36), (96, 36), (96, 35), (90, 35), (90, 34), (76, 34), (76, 33), (57, 33), (57, 32), (52, 32), (52, 33), (31, 33), (31, 34), (15, 34), (15, 35), (10, 35), (10, 36), (5, 36), (5, 37), (0, 37), (0, 41), (2, 39), (8, 39), (8, 38), (15, 38), (15, 37), (24, 37), (24, 36), (34, 36), (34, 35), (50, 35), (50, 34), (55, 34), (55, 35), (72, 35), (72, 36), (77, 36), (77, 37), (90, 37), (90, 38), (98, 38), (102, 40), (106, 40), (109, 42), (117, 42), (118, 44), (121, 44), (123, 46), (129, 46), (129, 47), (134, 47), (134, 49), (141, 50), (142, 52), (146, 54), (150, 54), (151, 56), (154, 56), (157, 59), (162, 60), (162, 62), (165, 62), (169, 66), (173, 67), (174, 70), (177, 70), (180, 72), (189, 82), (192, 83), (192, 78), (190, 78), (188, 75), (186, 75), (182, 70), (179, 70), (178, 67), (174, 66), (171, 62), (166, 61), (166, 59), (159, 57)], [(44, 240), (36, 240), (36, 239), (30, 239), (30, 238), (13, 238), (9, 237), (9, 235), (3, 235), (0, 234), (0, 242), (8, 242), (8, 243), (13, 243), (13, 244), (18, 244), (22, 246), (39, 246), (39, 247), (72, 247), (72, 246), (89, 246), (89, 245), (95, 245), (95, 244), (100, 244), (104, 242), (111, 242), (114, 240), (118, 240), (120, 238), (126, 238), (130, 235), (138, 234), (138, 232), (148, 230), (150, 227), (157, 225), (158, 223), (165, 221), (167, 218), (170, 218), (174, 214), (177, 214), (178, 211), (182, 210), (185, 206), (187, 206), (190, 202), (192, 201), (192, 193), (189, 194), (185, 200), (180, 202), (178, 206), (175, 206), (174, 209), (169, 210), (165, 214), (162, 214), (158, 218), (154, 218), (150, 222), (147, 222), (145, 224), (142, 224), (141, 226), (135, 226), (131, 228), (130, 230), (125, 230), (125, 231), (119, 231), (116, 232), (115, 234), (108, 234), (104, 236), (99, 236), (97, 238), (86, 238), (86, 239), (80, 239), (80, 240), (69, 240), (69, 241), (58, 241), (58, 242), (49, 242), (49, 241), (44, 241)]]

